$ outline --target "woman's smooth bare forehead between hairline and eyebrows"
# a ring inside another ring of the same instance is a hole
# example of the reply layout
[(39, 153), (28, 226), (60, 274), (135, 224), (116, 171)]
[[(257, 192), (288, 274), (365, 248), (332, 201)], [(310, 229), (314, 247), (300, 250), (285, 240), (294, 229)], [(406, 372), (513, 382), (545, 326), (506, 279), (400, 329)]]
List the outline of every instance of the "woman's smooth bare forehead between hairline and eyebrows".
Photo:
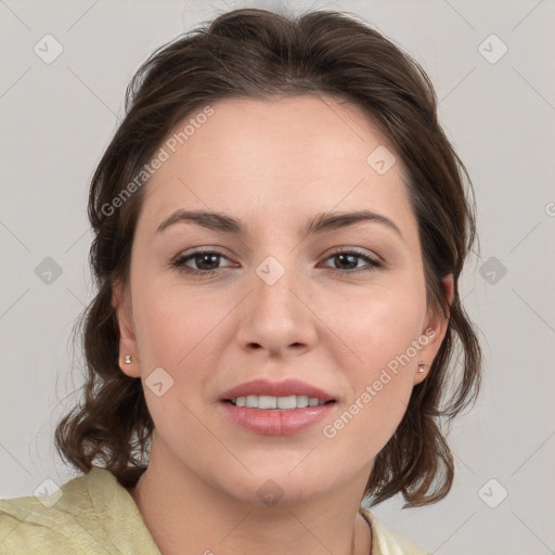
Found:
[(145, 185), (141, 216), (151, 227), (190, 207), (246, 220), (285, 221), (302, 207), (310, 214), (369, 208), (410, 219), (399, 157), (382, 173), (369, 163), (374, 152), (389, 153), (388, 163), (395, 154), (358, 107), (299, 95), (227, 99), (210, 108), (207, 117), (197, 117), (209, 113), (203, 106), (188, 115), (162, 144), (167, 159)]

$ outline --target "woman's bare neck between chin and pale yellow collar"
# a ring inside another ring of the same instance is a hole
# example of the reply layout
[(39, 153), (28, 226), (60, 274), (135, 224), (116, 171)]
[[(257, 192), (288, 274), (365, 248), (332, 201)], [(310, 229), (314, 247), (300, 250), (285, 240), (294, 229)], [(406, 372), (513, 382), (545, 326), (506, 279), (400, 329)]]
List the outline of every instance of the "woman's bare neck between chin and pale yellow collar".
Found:
[(129, 489), (162, 555), (371, 553), (371, 530), (359, 513), (367, 473), (315, 500), (254, 506), (210, 487), (164, 451), (153, 440), (149, 468)]

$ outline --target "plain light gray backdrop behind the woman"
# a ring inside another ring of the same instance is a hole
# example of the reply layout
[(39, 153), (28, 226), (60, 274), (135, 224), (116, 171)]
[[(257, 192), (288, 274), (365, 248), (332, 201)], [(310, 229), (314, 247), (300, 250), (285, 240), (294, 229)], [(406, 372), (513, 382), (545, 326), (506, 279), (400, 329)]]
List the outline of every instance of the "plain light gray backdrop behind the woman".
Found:
[[(93, 293), (88, 182), (129, 79), (155, 47), (247, 5), (280, 3), (0, 0), (0, 498), (74, 476), (52, 434), (81, 384), (70, 331)], [(308, 8), (360, 14), (423, 64), (477, 195), (481, 251), (462, 289), (486, 378), (450, 435), (454, 487), (434, 506), (374, 512), (431, 553), (555, 553), (554, 2), (295, 2)], [(48, 34), (63, 47), (51, 63), (34, 51), (55, 52)]]

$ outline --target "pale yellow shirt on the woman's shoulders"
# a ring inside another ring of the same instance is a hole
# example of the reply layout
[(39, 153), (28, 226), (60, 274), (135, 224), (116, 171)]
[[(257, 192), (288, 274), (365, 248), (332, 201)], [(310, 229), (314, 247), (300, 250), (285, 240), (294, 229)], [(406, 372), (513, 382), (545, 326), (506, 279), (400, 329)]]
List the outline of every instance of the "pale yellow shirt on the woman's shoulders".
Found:
[[(426, 555), (365, 508), (370, 555)], [(64, 483), (50, 498), (0, 500), (2, 555), (160, 555), (129, 492), (105, 468)]]

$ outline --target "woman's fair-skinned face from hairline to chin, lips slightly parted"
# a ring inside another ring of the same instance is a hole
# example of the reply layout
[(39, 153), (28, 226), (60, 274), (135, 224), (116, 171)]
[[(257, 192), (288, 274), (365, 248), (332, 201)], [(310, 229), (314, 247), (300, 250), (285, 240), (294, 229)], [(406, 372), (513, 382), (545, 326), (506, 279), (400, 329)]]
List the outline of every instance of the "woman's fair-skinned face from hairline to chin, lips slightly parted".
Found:
[[(248, 503), (267, 480), (284, 502), (363, 487), (447, 328), (426, 307), (399, 156), (370, 164), (392, 149), (330, 98), (211, 107), (163, 145), (114, 293), (158, 464)], [(183, 217), (197, 210), (228, 219)], [(362, 210), (375, 216), (324, 224)]]

